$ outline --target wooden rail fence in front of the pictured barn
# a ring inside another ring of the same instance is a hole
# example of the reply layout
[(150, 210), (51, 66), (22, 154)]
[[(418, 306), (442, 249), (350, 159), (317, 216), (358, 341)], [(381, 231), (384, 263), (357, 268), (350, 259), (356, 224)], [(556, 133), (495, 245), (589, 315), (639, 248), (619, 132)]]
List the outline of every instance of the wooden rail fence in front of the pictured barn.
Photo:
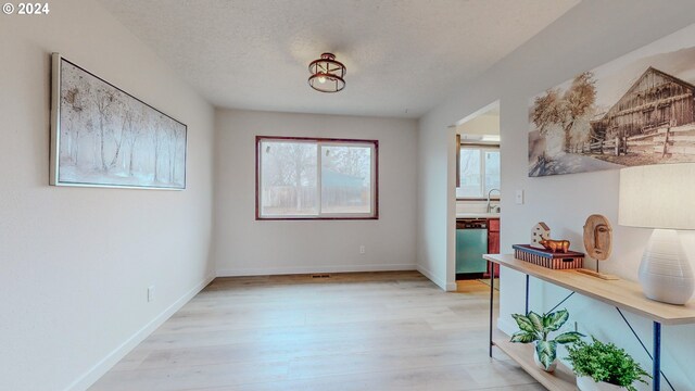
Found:
[(632, 137), (616, 137), (611, 140), (584, 142), (572, 151), (581, 154), (656, 153), (667, 155), (695, 155), (695, 124), (678, 127), (646, 129), (645, 134)]

